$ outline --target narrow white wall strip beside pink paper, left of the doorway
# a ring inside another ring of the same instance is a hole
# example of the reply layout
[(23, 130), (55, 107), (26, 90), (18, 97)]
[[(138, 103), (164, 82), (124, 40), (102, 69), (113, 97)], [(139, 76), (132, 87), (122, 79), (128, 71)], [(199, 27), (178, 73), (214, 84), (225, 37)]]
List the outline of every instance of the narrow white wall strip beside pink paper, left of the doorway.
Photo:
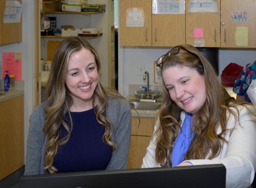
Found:
[(25, 154), (28, 137), (29, 116), (33, 111), (35, 94), (35, 29), (34, 29), (34, 0), (22, 1), (22, 42), (8, 45), (0, 45), (2, 59), (3, 52), (21, 52), (22, 56), (22, 80), (24, 80), (24, 142)]

